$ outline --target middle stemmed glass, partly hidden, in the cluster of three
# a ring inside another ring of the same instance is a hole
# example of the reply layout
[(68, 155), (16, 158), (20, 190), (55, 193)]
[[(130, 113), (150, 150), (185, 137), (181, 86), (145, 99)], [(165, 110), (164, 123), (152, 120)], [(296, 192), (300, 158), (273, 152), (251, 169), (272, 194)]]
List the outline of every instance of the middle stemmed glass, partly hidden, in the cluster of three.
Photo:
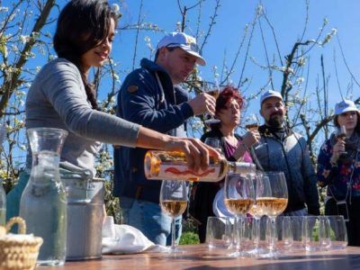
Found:
[(254, 238), (254, 248), (247, 251), (252, 257), (259, 257), (260, 254), (265, 254), (266, 249), (259, 247), (260, 240), (260, 219), (264, 215), (262, 209), (257, 204), (257, 197), (262, 197), (262, 194), (270, 187), (268, 181), (264, 181), (264, 174), (262, 171), (257, 171), (255, 174), (250, 175), (255, 189), (255, 203), (251, 206), (248, 213), (253, 217), (253, 238)]

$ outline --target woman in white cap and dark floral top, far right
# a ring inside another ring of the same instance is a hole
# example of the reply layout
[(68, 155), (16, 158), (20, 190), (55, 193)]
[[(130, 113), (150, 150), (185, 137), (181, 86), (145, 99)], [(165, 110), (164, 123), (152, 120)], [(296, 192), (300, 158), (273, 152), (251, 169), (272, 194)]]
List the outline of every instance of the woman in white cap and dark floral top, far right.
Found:
[(328, 186), (325, 214), (343, 215), (349, 246), (360, 246), (360, 113), (356, 104), (351, 100), (336, 103), (334, 124), (337, 130), (320, 148), (318, 183)]

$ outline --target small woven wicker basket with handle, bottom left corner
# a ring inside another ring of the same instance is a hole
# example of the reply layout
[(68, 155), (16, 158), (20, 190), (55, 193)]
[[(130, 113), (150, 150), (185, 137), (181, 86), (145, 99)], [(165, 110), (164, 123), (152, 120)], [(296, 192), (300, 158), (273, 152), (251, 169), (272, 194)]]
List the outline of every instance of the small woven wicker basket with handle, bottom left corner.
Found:
[[(26, 233), (25, 221), (15, 217), (6, 223), (5, 231), (8, 232), (13, 225), (19, 225), (18, 233)], [(21, 237), (21, 236), (20, 236)], [(0, 226), (0, 270), (31, 270), (36, 265), (42, 238), (26, 235), (24, 239), (9, 237), (4, 234), (4, 227)]]

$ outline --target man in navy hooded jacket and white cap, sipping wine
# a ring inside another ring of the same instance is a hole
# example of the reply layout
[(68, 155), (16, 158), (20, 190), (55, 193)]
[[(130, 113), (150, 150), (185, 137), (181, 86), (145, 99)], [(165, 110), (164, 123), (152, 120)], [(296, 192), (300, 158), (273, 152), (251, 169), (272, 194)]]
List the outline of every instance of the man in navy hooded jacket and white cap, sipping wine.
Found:
[[(121, 85), (117, 115), (152, 130), (185, 137), (184, 122), (193, 115), (214, 113), (215, 99), (200, 94), (187, 100), (181, 87), (195, 64), (205, 60), (196, 40), (184, 32), (171, 32), (157, 44), (154, 61), (141, 60)], [(169, 245), (171, 218), (161, 211), (161, 181), (148, 181), (144, 175), (147, 149), (114, 149), (114, 194), (120, 197), (125, 223), (140, 229), (151, 241)], [(166, 179), (165, 179), (166, 180)], [(181, 217), (176, 220), (176, 238), (181, 234)]]

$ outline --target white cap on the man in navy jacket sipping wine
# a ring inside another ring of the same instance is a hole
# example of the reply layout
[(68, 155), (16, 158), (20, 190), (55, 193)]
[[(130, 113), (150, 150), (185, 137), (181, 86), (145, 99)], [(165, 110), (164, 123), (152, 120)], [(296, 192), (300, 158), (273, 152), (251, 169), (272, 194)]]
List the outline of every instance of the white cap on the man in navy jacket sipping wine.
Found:
[(166, 36), (157, 43), (157, 49), (160, 49), (162, 47), (179, 47), (181, 49), (184, 49), (186, 52), (197, 58), (197, 64), (201, 66), (206, 65), (206, 61), (204, 58), (202, 58), (199, 46), (197, 46), (196, 44), (196, 39), (192, 36), (185, 34), (184, 32), (173, 31), (166, 34)]

